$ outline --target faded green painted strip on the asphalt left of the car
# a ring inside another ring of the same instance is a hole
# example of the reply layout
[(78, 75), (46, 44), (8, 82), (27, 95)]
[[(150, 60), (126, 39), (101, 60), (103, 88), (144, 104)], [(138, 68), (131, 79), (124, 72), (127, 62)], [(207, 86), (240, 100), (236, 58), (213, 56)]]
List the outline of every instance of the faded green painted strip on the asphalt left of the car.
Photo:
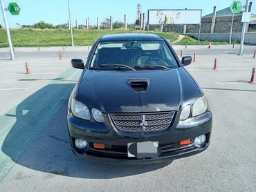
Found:
[(67, 70), (0, 117), (0, 182), (60, 110), (80, 73)]

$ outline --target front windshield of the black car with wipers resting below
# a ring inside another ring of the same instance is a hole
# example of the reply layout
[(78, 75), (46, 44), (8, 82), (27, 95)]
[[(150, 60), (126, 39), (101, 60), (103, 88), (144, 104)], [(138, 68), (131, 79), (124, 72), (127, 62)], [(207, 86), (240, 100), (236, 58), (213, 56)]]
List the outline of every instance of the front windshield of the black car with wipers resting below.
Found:
[[(106, 68), (106, 66), (108, 67)], [(172, 51), (165, 41), (115, 41), (98, 44), (90, 68), (104, 68), (104, 70), (157, 68), (166, 70), (177, 66)]]

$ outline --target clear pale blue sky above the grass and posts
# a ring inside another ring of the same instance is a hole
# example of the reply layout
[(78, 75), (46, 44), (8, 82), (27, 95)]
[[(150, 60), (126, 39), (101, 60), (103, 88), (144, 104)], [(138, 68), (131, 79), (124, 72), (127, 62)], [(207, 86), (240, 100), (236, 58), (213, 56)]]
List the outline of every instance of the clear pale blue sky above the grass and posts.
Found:
[[(7, 12), (10, 28), (17, 28), (17, 24), (33, 24), (38, 21), (46, 21), (54, 25), (66, 23), (68, 19), (68, 1), (67, 0), (3, 0), (8, 7), (10, 2), (17, 2), (21, 8), (18, 16), (10, 15)], [(253, 13), (256, 14), (256, 0), (253, 1)], [(142, 12), (147, 13), (148, 9), (183, 9), (193, 8), (202, 9), (203, 15), (212, 12), (213, 6), (221, 10), (230, 6), (231, 0), (70, 0), (71, 15), (73, 25), (75, 19), (79, 24), (84, 24), (85, 18), (90, 18), (90, 24), (96, 23), (96, 18), (102, 19), (113, 17), (113, 21), (123, 21), (124, 15), (127, 14), (129, 23), (136, 20), (136, 5), (141, 4)], [(241, 1), (243, 5), (246, 0)], [(0, 23), (3, 26), (3, 16), (0, 16)]]

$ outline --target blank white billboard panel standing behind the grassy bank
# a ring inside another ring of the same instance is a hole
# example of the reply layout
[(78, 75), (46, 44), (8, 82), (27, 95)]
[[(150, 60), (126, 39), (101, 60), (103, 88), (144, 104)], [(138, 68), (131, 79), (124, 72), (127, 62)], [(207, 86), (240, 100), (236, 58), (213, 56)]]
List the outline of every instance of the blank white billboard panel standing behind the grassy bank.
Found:
[(200, 24), (202, 10), (148, 10), (149, 25)]

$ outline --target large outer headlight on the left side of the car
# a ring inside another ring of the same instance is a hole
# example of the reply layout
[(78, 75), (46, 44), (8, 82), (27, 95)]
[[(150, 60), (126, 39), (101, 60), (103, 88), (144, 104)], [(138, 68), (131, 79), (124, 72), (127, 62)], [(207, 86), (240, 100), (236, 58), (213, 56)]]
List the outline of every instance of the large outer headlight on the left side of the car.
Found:
[(72, 99), (71, 111), (73, 115), (75, 115), (75, 117), (79, 117), (81, 119), (86, 120), (91, 119), (89, 108), (81, 102), (77, 102), (75, 99)]

